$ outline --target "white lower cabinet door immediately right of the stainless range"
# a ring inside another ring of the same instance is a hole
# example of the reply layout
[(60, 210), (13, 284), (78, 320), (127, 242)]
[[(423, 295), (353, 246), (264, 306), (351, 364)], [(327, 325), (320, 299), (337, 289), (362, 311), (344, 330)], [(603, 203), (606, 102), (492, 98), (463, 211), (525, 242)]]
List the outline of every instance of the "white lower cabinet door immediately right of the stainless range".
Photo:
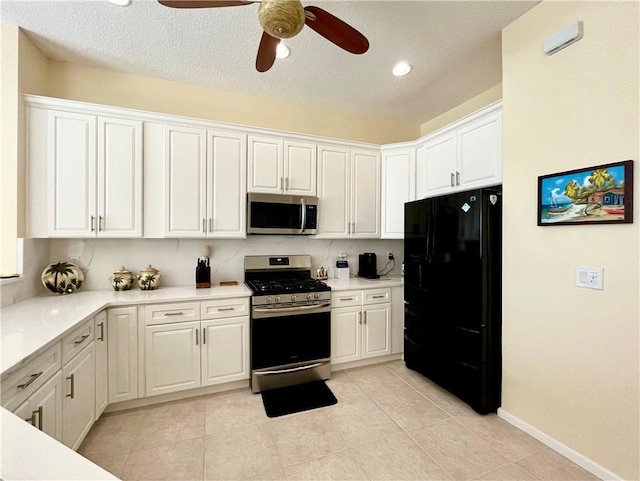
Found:
[(331, 310), (331, 363), (357, 361), (362, 355), (362, 308)]

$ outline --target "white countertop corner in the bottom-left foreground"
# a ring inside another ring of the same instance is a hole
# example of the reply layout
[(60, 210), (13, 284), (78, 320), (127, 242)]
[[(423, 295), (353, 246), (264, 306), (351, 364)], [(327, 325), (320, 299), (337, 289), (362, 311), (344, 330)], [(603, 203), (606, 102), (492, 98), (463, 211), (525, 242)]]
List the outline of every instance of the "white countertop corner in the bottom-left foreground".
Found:
[(0, 408), (0, 426), (0, 478), (4, 480), (118, 479), (4, 408)]

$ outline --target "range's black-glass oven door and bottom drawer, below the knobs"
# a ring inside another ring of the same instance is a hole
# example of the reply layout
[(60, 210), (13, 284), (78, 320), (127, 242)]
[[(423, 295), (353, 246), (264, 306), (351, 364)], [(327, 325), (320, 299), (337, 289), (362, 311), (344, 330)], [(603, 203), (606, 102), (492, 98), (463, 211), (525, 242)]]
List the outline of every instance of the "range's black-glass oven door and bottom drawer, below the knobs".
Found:
[(331, 376), (331, 305), (256, 306), (251, 318), (251, 390)]

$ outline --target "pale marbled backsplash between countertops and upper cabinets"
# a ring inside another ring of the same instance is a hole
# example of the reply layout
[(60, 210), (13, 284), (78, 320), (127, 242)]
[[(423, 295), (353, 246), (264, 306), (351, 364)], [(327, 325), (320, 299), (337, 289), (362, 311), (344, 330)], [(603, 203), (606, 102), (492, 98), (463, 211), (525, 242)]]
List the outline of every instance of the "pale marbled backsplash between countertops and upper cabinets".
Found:
[[(28, 241), (33, 242), (33, 241)], [(244, 279), (244, 256), (310, 254), (313, 273), (324, 266), (333, 276), (338, 253), (348, 254), (351, 275), (358, 272), (358, 254), (375, 252), (378, 271), (387, 271), (387, 252), (395, 257), (391, 275), (400, 275), (402, 240), (321, 240), (303, 236), (249, 236), (247, 239), (50, 239), (49, 256), (39, 272), (54, 261), (71, 260), (85, 273), (84, 289), (111, 289), (109, 276), (121, 266), (134, 274), (147, 264), (160, 271), (162, 286), (195, 285), (195, 269), (204, 246), (210, 248), (211, 285)], [(385, 267), (386, 266), (386, 267)], [(39, 278), (38, 278), (39, 281)], [(137, 288), (137, 286), (135, 287)], [(42, 287), (39, 294), (47, 291)], [(4, 297), (4, 293), (3, 293)]]

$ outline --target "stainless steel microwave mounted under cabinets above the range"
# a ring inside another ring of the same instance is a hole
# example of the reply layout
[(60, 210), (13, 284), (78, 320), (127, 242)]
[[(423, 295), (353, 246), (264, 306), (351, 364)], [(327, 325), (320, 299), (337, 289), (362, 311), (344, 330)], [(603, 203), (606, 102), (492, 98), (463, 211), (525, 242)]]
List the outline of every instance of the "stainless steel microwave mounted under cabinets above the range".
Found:
[(247, 234), (312, 235), (317, 232), (317, 197), (247, 194)]

